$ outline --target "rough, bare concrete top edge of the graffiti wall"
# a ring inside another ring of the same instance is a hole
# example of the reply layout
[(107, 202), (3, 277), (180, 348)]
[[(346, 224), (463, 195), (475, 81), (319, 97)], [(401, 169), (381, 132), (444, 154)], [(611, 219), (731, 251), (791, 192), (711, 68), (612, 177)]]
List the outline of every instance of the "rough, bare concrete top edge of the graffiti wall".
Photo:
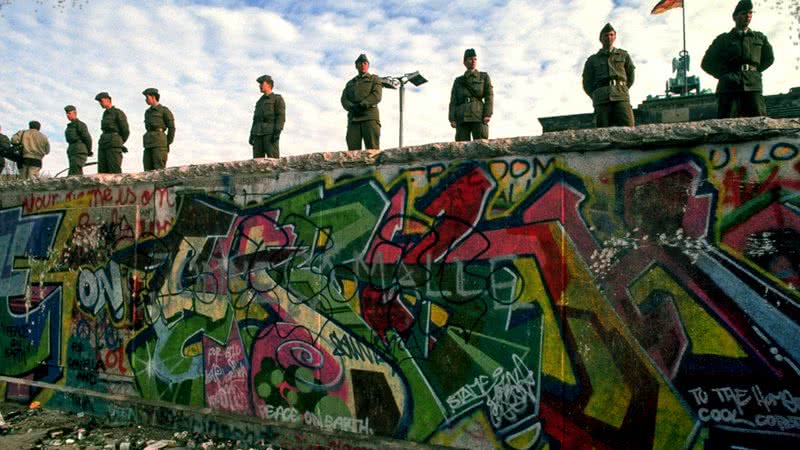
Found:
[(800, 119), (770, 119), (767, 117), (715, 119), (701, 122), (640, 125), (635, 128), (567, 130), (544, 133), (540, 136), (432, 143), (387, 150), (311, 153), (280, 159), (249, 159), (170, 167), (155, 172), (30, 180), (12, 177), (0, 180), (0, 192), (20, 189), (60, 190), (138, 183), (168, 187), (209, 176), (262, 175), (277, 177), (286, 172), (419, 163), (429, 160), (486, 159), (542, 153), (690, 147), (709, 143), (751, 141), (782, 135), (800, 135)]

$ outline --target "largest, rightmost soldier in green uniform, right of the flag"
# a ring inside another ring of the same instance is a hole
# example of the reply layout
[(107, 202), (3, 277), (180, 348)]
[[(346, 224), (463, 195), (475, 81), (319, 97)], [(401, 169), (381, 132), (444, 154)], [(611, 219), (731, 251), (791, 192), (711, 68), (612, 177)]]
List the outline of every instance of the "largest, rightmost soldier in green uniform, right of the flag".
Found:
[(718, 79), (717, 115), (728, 117), (766, 116), (761, 72), (775, 62), (767, 37), (749, 28), (753, 3), (741, 0), (733, 10), (736, 26), (714, 39), (700, 66)]

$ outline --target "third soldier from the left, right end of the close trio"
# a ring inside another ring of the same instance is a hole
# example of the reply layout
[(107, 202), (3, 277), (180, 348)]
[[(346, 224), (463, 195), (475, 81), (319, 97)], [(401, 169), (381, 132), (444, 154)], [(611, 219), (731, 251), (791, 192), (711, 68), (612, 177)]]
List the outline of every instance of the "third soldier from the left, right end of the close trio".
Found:
[(145, 103), (150, 105), (144, 112), (145, 133), (142, 136), (142, 162), (145, 172), (149, 172), (167, 167), (169, 146), (175, 140), (175, 117), (169, 108), (159, 103), (161, 95), (158, 89), (147, 88), (142, 91), (142, 95)]

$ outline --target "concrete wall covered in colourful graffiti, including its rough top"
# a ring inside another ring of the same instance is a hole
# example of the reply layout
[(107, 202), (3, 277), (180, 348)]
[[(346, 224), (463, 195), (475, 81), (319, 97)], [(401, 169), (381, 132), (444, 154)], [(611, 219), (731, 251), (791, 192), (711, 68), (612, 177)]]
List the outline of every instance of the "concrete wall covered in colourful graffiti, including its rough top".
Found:
[(7, 183), (0, 394), (260, 417), (284, 448), (797, 448), (798, 133)]

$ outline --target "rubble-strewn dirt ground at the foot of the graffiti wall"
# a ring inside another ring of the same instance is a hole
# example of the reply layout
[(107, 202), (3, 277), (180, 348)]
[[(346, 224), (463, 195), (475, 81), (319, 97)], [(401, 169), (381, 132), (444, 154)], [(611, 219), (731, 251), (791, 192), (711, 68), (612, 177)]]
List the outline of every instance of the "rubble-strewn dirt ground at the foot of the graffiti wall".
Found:
[(0, 403), (0, 415), (0, 449), (3, 450), (279, 450), (266, 443), (245, 446), (236, 441), (185, 431), (104, 424), (82, 414), (15, 403)]

